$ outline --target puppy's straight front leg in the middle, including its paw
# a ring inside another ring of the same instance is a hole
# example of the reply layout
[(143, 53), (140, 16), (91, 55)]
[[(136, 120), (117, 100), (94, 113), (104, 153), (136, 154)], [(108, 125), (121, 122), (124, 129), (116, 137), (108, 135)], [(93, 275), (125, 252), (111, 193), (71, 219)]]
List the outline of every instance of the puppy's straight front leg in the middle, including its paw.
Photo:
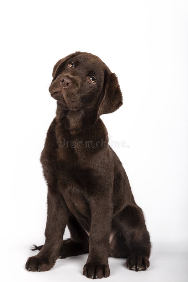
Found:
[(112, 202), (105, 195), (91, 199), (91, 228), (89, 235), (89, 255), (84, 265), (83, 275), (96, 279), (108, 277), (109, 236), (112, 221)]

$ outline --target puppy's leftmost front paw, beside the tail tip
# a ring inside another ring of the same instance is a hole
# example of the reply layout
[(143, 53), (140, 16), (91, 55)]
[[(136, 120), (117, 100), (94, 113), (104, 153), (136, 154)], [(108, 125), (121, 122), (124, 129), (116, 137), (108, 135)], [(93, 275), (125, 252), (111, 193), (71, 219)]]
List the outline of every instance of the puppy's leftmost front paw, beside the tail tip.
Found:
[(55, 260), (50, 260), (46, 257), (30, 257), (26, 264), (25, 268), (28, 271), (47, 271), (50, 270), (55, 264)]

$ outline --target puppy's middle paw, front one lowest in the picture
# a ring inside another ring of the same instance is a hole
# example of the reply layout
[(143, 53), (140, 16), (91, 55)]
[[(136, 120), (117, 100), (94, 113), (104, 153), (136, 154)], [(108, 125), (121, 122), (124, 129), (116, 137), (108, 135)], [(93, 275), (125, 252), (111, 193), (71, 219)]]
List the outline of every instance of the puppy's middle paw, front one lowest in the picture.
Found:
[(110, 275), (110, 269), (108, 264), (100, 263), (87, 263), (84, 265), (83, 275), (87, 278), (97, 279), (108, 277)]

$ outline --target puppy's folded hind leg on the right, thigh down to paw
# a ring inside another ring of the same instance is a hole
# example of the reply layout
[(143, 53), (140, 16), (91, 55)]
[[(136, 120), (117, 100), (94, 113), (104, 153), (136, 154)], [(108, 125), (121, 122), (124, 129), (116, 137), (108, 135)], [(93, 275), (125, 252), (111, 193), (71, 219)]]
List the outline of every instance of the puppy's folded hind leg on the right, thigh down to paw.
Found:
[(126, 206), (114, 218), (113, 224), (123, 235), (128, 249), (127, 267), (136, 271), (146, 270), (149, 267), (151, 243), (141, 208)]

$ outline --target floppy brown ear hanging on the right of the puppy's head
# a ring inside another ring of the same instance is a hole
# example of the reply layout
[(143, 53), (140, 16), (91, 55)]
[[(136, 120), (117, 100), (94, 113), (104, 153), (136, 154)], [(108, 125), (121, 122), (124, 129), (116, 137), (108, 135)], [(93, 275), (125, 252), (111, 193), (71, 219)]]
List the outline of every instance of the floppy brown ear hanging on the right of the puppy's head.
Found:
[(98, 105), (98, 118), (102, 114), (115, 112), (123, 104), (122, 92), (115, 73), (107, 73), (104, 78), (102, 96)]

